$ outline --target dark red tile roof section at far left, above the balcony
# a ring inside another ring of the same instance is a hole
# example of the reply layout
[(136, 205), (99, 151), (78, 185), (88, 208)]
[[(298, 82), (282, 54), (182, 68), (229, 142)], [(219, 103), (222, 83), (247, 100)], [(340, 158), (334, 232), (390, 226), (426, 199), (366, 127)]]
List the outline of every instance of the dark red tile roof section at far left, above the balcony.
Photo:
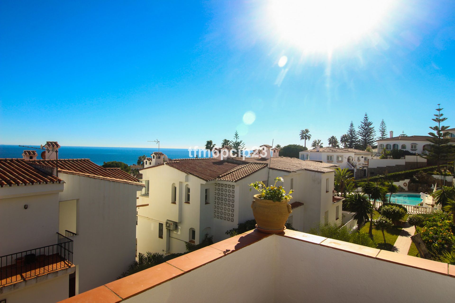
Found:
[(63, 180), (36, 169), (24, 159), (0, 159), (0, 187), (5, 185), (27, 185), (61, 183)]

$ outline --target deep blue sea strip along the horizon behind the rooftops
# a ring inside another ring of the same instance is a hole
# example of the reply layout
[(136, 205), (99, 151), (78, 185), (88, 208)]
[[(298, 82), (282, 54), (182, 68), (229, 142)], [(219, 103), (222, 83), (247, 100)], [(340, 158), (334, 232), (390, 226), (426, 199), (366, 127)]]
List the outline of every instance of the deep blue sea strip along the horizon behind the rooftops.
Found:
[[(38, 145), (29, 145), (40, 147)], [(21, 147), (18, 145), (2, 145), (0, 144), (0, 158), (22, 158), (24, 150), (30, 148)], [(36, 149), (38, 159), (42, 152)], [(102, 165), (103, 162), (120, 161), (126, 164), (136, 164), (137, 158), (141, 155), (150, 156), (153, 152), (158, 151), (157, 148), (136, 148), (136, 147), (86, 147), (86, 146), (62, 146), (59, 149), (59, 159), (90, 159), (92, 162)], [(188, 149), (160, 149), (160, 152), (167, 155), (170, 159), (187, 159), (191, 158)], [(194, 156), (194, 152), (193, 152)], [(198, 155), (199, 156), (199, 155)], [(207, 154), (208, 156), (208, 154)], [(203, 154), (199, 156), (203, 157)]]

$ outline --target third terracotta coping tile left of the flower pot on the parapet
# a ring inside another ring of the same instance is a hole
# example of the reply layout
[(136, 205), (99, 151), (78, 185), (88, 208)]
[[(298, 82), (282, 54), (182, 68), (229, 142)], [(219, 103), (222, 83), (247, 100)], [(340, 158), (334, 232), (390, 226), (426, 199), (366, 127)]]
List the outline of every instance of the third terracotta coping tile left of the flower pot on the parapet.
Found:
[(121, 298), (126, 299), (175, 278), (182, 273), (184, 273), (182, 270), (175, 268), (172, 265), (161, 263), (157, 266), (126, 276), (125, 278), (107, 283), (106, 287), (110, 288)]

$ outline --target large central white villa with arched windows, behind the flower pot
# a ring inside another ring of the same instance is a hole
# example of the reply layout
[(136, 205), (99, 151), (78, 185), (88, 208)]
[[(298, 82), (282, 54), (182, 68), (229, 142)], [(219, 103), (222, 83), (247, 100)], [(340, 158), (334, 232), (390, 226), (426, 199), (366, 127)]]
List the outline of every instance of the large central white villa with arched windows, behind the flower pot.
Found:
[[(341, 223), (342, 204), (334, 202), (335, 164), (285, 157), (175, 159), (141, 170), (145, 189), (137, 200), (138, 253), (180, 253), (185, 243), (215, 242), (226, 231), (253, 219), (254, 190), (248, 184), (283, 177), (294, 189), (289, 222), (308, 230), (318, 222)], [(223, 147), (222, 149), (229, 149)], [(221, 153), (220, 153), (221, 154)]]

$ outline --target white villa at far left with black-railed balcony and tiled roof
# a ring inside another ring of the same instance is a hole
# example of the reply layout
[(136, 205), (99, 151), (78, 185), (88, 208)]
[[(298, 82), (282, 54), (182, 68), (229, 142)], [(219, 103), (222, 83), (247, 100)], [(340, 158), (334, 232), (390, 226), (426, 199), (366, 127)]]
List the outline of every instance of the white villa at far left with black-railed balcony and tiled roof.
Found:
[(60, 145), (44, 148), (51, 159), (26, 151), (0, 159), (0, 302), (63, 300), (117, 278), (135, 260), (143, 184), (89, 159), (59, 159), (57, 170)]

